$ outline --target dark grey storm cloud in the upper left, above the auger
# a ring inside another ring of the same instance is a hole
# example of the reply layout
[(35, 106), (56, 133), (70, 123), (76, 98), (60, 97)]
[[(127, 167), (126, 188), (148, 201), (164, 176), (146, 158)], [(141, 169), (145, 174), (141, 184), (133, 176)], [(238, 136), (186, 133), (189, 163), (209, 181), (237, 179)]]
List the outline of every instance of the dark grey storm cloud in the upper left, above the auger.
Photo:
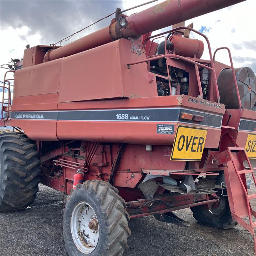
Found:
[[(121, 0), (2, 0), (1, 29), (27, 26), (30, 28), (28, 35), (40, 33), (41, 44), (50, 44), (107, 16), (116, 7), (122, 8)], [(100, 21), (74, 36), (72, 41), (107, 26), (110, 20)]]

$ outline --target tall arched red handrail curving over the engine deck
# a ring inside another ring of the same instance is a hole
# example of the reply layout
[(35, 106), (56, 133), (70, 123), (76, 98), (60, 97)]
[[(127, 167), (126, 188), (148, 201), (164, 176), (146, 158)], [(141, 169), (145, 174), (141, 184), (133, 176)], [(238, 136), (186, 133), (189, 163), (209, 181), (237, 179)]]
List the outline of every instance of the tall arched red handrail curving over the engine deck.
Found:
[[(214, 80), (214, 87), (215, 87), (215, 91), (216, 91), (216, 97), (217, 97), (217, 102), (220, 103), (220, 93), (219, 93), (219, 88), (218, 88), (218, 84), (217, 84), (217, 77), (216, 77), (216, 73), (215, 73), (215, 68), (214, 68), (214, 62), (213, 62), (213, 59), (212, 59), (212, 50), (211, 50), (211, 45), (210, 45), (210, 42), (207, 38), (207, 36), (205, 36), (203, 33), (195, 30), (194, 28), (190, 28), (190, 27), (179, 27), (179, 28), (174, 28), (174, 29), (171, 29), (171, 30), (168, 30), (168, 31), (165, 31), (165, 32), (162, 32), (162, 33), (159, 33), (157, 35), (154, 35), (154, 36), (149, 36), (148, 38), (146, 38), (146, 40), (144, 41), (144, 45), (143, 45), (143, 52), (145, 53), (145, 47), (146, 47), (146, 44), (148, 42), (149, 39), (153, 38), (153, 37), (156, 37), (156, 36), (162, 36), (166, 33), (172, 33), (172, 32), (175, 32), (177, 30), (181, 30), (181, 29), (188, 29), (188, 30), (191, 30), (193, 32), (195, 32), (196, 34), (200, 35), (200, 36), (203, 36), (206, 43), (207, 43), (207, 46), (208, 46), (208, 50), (209, 50), (209, 55), (210, 55), (210, 60), (211, 60), (211, 66), (212, 66), (212, 73), (213, 73), (213, 80)], [(199, 65), (200, 63), (197, 63), (195, 65)], [(206, 67), (206, 66), (205, 66)], [(208, 68), (209, 69), (209, 68)]]

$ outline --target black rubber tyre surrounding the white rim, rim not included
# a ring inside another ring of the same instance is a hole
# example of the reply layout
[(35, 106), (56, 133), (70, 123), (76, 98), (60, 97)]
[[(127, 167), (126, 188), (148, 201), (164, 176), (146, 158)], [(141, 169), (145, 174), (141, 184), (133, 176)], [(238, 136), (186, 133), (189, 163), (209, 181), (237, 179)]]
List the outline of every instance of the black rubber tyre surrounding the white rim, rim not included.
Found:
[(86, 180), (83, 184), (77, 184), (76, 189), (66, 198), (61, 223), (66, 255), (84, 255), (73, 242), (70, 230), (73, 209), (81, 201), (90, 204), (98, 217), (99, 240), (90, 255), (123, 255), (129, 248), (127, 239), (131, 235), (131, 230), (128, 228), (130, 216), (125, 211), (125, 201), (119, 196), (118, 189), (102, 180)]

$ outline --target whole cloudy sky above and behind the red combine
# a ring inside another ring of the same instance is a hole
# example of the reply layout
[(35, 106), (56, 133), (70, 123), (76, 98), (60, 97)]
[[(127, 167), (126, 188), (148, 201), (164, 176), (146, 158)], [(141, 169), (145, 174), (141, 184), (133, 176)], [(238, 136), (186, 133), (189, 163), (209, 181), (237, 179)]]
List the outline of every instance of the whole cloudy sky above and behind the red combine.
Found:
[[(34, 46), (56, 43), (73, 32), (114, 12), (116, 7), (124, 10), (148, 1), (0, 0), (0, 65), (11, 61), (11, 58), (22, 58), (23, 50), (27, 44)], [(163, 1), (160, 0), (153, 4), (160, 2)], [(139, 12), (153, 4), (131, 10), (125, 14)], [(220, 11), (188, 20), (186, 25), (193, 21), (194, 28), (208, 36), (212, 51), (217, 47), (228, 46), (235, 67), (249, 66), (256, 72), (255, 10), (256, 0), (247, 0)], [(93, 25), (68, 42), (107, 26), (110, 20), (111, 17)], [(197, 36), (192, 35), (192, 37)], [(62, 45), (68, 42), (64, 42)], [(208, 58), (206, 47), (202, 58)], [(228, 64), (227, 52), (217, 54), (216, 60)], [(0, 81), (3, 81), (5, 71), (6, 69), (0, 68)]]

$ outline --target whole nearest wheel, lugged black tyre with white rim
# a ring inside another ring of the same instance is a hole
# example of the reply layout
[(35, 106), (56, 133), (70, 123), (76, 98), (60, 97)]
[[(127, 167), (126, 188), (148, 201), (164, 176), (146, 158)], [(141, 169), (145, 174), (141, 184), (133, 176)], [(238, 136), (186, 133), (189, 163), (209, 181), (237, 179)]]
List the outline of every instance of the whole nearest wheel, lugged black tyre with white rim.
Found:
[(118, 190), (105, 181), (86, 180), (71, 192), (62, 210), (66, 255), (122, 255), (131, 230)]

